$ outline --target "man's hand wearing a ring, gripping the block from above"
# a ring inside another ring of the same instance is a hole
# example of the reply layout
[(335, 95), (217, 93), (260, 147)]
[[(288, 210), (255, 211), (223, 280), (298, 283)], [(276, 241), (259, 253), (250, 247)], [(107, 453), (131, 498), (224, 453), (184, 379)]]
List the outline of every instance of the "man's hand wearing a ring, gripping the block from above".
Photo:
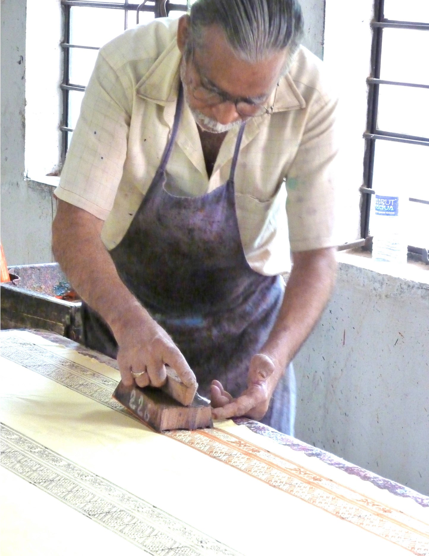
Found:
[[(114, 326), (118, 342), (118, 365), (122, 382), (131, 386), (165, 384), (165, 365), (170, 365), (186, 386), (195, 386), (196, 379), (186, 359), (166, 331), (146, 311), (135, 311), (132, 319), (119, 320)], [(132, 323), (130, 324), (130, 320)], [(143, 373), (139, 376), (134, 374)]]

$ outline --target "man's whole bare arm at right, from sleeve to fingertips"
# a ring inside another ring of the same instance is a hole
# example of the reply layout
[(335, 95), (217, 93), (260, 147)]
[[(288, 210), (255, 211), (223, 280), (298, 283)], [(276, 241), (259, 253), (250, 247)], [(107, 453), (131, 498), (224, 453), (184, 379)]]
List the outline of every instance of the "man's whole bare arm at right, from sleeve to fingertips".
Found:
[[(335, 280), (335, 247), (293, 254), (284, 299), (263, 353), (251, 359), (248, 388), (235, 400), (219, 381), (211, 383), (214, 419), (245, 415), (261, 419), (277, 382), (319, 319)], [(268, 355), (266, 355), (268, 354)]]

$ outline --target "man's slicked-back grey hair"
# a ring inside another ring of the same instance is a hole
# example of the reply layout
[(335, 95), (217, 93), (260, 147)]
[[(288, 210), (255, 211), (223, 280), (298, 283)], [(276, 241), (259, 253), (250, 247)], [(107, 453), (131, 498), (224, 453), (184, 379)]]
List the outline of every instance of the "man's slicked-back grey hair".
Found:
[(187, 53), (203, 46), (203, 29), (210, 25), (224, 31), (241, 59), (259, 62), (287, 48), (290, 62), (299, 47), (304, 20), (297, 0), (196, 0), (190, 10)]

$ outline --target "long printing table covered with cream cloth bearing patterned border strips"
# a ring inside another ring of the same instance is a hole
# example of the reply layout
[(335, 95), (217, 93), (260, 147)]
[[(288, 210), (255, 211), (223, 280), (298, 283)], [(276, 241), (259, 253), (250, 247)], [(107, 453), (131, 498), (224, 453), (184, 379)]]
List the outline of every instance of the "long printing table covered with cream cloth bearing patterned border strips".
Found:
[(248, 419), (153, 433), (116, 361), (0, 339), (2, 556), (429, 554), (428, 497)]

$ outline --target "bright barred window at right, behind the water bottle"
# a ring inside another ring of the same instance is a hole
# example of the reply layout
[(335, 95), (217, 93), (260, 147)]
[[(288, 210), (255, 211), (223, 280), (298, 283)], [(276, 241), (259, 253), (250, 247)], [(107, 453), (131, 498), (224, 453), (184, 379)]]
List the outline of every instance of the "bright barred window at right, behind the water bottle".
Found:
[(375, 0), (372, 28), (361, 237), (371, 234), (371, 193), (400, 188), (408, 251), (428, 262), (429, 2)]

